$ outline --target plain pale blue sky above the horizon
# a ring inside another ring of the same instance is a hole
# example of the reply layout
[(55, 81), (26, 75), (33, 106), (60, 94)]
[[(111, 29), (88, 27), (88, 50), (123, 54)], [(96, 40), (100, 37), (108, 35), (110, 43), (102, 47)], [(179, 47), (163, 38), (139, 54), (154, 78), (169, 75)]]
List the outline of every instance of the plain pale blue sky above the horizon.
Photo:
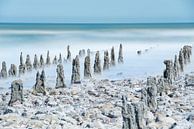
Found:
[(0, 23), (194, 22), (194, 0), (0, 0)]

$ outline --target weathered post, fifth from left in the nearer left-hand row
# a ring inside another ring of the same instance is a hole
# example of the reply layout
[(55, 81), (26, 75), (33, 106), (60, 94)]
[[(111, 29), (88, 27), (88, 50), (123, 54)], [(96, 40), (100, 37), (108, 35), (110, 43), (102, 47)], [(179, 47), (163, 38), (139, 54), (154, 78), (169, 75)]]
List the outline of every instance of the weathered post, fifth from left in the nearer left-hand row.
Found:
[(91, 75), (91, 65), (90, 65), (90, 56), (86, 56), (85, 57), (85, 61), (84, 61), (84, 77), (85, 78), (92, 77), (92, 75)]

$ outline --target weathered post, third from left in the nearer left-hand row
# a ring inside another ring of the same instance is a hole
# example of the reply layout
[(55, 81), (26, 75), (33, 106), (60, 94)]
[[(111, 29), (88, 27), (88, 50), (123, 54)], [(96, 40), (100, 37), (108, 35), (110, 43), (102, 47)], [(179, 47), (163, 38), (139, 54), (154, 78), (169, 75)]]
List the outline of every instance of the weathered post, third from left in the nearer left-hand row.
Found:
[(64, 70), (63, 70), (63, 65), (58, 64), (57, 65), (57, 79), (56, 79), (56, 86), (55, 88), (65, 88), (65, 76), (64, 76)]

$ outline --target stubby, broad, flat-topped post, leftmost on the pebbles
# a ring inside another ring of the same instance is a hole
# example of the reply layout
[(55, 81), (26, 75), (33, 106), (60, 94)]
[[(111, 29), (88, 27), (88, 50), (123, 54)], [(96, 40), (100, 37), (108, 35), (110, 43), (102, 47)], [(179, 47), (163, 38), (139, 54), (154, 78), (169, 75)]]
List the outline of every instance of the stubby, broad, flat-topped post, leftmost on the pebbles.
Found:
[(12, 106), (16, 101), (23, 103), (23, 82), (22, 80), (15, 80), (11, 83), (11, 99), (9, 106)]

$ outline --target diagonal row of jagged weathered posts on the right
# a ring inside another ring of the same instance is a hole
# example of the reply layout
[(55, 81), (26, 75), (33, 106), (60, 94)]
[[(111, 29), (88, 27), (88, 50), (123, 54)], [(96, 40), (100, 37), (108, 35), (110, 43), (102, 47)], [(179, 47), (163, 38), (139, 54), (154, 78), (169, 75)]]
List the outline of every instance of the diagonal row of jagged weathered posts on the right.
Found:
[(148, 122), (146, 112), (153, 114), (157, 112), (157, 97), (170, 90), (173, 80), (179, 77), (184, 71), (184, 67), (190, 62), (192, 47), (184, 46), (179, 51), (179, 56), (175, 55), (174, 63), (172, 60), (165, 60), (166, 69), (160, 78), (148, 77), (145, 88), (141, 90), (141, 99), (138, 102), (129, 102), (127, 97), (122, 97), (122, 117), (123, 129), (144, 129)]

